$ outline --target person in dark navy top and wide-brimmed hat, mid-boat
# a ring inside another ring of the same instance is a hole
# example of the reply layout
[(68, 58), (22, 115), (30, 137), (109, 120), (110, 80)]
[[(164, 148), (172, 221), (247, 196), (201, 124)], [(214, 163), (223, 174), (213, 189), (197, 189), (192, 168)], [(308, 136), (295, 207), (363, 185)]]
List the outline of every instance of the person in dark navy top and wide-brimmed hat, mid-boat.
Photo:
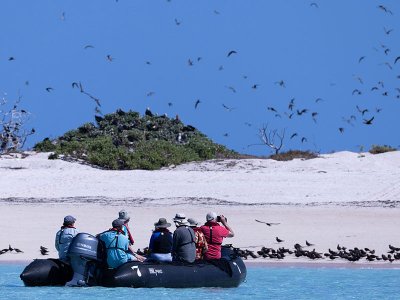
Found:
[(172, 233), (168, 230), (171, 223), (165, 218), (160, 218), (154, 223), (154, 231), (149, 243), (149, 256), (147, 260), (172, 261)]

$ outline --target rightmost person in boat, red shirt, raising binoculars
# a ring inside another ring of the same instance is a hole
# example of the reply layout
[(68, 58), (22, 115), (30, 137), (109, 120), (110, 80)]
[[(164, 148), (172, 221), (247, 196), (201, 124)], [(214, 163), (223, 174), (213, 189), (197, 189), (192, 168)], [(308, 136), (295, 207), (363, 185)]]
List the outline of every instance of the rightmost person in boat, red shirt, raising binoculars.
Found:
[[(206, 216), (206, 223), (200, 227), (206, 237), (208, 250), (204, 254), (205, 259), (220, 259), (221, 245), (226, 237), (233, 237), (235, 233), (228, 225), (226, 218), (221, 215), (217, 216), (215, 212), (209, 212)], [(219, 225), (221, 222), (223, 226)]]

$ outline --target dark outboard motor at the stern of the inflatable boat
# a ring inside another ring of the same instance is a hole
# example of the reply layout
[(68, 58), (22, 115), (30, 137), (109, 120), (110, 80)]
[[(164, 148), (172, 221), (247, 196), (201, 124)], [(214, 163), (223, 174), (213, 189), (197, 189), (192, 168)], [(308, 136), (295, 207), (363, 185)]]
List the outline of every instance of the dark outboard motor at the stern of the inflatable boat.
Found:
[(70, 264), (74, 271), (72, 280), (67, 286), (87, 286), (94, 277), (95, 268), (101, 261), (101, 243), (89, 233), (78, 233), (71, 241), (68, 249)]

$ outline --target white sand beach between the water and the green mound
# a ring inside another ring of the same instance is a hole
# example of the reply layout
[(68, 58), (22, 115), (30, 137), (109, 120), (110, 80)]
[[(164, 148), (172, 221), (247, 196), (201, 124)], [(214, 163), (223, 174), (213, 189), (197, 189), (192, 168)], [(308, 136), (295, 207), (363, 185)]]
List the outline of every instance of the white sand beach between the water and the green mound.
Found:
[[(77, 218), (80, 231), (96, 234), (108, 229), (122, 208), (131, 215), (135, 248), (147, 246), (158, 218), (184, 212), (204, 221), (211, 210), (224, 214), (235, 231), (225, 242), (249, 250), (292, 249), (306, 240), (315, 246), (305, 249), (319, 252), (340, 244), (386, 254), (389, 244), (400, 246), (399, 151), (339, 152), (289, 162), (213, 160), (159, 171), (105, 171), (47, 157), (0, 158), (0, 249), (10, 244), (24, 251), (0, 255), (0, 262), (43, 258), (40, 246), (56, 257), (54, 236), (65, 215)], [(268, 227), (255, 219), (280, 224)], [(277, 236), (284, 242), (278, 244)], [(279, 263), (309, 261), (290, 256)]]

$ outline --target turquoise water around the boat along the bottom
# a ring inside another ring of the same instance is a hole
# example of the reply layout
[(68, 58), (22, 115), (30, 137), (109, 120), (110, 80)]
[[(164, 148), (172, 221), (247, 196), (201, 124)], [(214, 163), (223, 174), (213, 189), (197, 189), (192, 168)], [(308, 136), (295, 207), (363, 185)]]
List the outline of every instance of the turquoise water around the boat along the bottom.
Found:
[(109, 289), (28, 288), (19, 279), (23, 268), (0, 265), (0, 299), (400, 299), (396, 269), (249, 267), (238, 288)]

